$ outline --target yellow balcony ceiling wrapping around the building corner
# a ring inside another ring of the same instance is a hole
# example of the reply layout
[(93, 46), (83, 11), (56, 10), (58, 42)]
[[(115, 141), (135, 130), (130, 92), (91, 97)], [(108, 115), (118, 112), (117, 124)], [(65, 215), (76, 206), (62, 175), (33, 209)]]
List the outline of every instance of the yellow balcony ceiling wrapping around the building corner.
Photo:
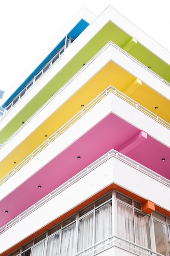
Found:
[[(102, 70), (93, 76), (91, 80), (80, 88), (80, 90), (49, 116), (44, 123), (38, 126), (31, 135), (25, 135), (26, 138), (22, 143), (16, 145), (16, 148), (11, 153), (8, 153), (7, 157), (2, 159), (0, 162), (0, 178), (2, 179), (15, 168), (14, 162), (18, 165), (38, 148), (38, 146), (46, 140), (45, 135), (50, 137), (76, 115), (77, 112), (82, 110), (82, 104), (86, 106), (110, 85), (126, 93), (130, 98), (170, 123), (170, 115), (168, 115), (167, 111), (167, 109), (170, 109), (170, 101), (152, 90), (152, 88), (148, 87), (146, 84), (142, 83), (139, 85), (136, 83), (135, 76), (129, 74), (113, 61), (110, 61)], [(158, 108), (155, 109), (155, 106)], [(20, 119), (20, 123), (22, 123), (22, 120), (23, 119)]]

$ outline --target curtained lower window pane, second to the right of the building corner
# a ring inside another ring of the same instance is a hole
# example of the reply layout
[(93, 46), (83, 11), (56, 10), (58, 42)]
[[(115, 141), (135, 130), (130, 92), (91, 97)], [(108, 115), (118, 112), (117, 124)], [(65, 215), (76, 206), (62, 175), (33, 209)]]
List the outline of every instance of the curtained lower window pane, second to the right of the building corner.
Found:
[(149, 218), (137, 211), (135, 211), (135, 236), (135, 243), (151, 249)]

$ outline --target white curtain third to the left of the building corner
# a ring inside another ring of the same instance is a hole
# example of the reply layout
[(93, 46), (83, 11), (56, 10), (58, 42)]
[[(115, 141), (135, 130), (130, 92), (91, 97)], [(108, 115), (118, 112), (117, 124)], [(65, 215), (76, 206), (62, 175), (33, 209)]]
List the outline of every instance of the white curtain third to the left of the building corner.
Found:
[(62, 245), (60, 256), (75, 254), (75, 224), (62, 231)]

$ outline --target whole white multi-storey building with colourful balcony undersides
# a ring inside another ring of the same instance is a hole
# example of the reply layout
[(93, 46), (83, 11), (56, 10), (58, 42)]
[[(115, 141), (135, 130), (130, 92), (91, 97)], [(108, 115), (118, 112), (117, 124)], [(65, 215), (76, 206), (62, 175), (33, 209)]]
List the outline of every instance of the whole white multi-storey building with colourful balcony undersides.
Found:
[(170, 53), (84, 7), (4, 93), (0, 255), (170, 255)]

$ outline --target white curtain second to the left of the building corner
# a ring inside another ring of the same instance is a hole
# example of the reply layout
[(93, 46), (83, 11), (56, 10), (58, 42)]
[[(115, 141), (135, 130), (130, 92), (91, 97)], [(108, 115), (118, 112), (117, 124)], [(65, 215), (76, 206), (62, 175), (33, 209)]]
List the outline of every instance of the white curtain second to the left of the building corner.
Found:
[(93, 213), (79, 220), (77, 252), (88, 248), (93, 243)]

